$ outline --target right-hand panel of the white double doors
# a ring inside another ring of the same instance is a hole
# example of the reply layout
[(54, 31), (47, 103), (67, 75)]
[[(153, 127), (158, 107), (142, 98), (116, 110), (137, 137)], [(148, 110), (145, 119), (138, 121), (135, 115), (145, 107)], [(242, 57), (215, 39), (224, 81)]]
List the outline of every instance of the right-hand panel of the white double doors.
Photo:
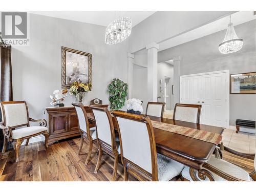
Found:
[(201, 76), (201, 123), (226, 127), (226, 73)]

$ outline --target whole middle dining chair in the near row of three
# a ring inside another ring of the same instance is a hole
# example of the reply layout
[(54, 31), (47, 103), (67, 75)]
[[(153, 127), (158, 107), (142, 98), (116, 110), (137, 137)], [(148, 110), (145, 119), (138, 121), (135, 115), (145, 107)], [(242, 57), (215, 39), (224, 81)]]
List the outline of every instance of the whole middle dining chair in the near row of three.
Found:
[(114, 125), (108, 108), (91, 106), (96, 124), (97, 143), (99, 146), (98, 161), (94, 173), (98, 172), (102, 151), (114, 158), (112, 181), (116, 180), (120, 142), (116, 139)]

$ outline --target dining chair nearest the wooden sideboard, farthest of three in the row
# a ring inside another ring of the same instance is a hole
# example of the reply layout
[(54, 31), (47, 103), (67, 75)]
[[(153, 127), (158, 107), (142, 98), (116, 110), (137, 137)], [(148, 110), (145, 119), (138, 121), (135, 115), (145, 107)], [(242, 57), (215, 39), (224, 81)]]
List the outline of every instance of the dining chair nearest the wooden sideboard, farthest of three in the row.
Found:
[(96, 127), (89, 126), (89, 120), (87, 117), (87, 112), (84, 109), (84, 106), (82, 103), (72, 103), (72, 105), (75, 107), (77, 117), (78, 117), (78, 127), (79, 131), (81, 133), (81, 143), (78, 150), (78, 155), (80, 155), (80, 152), (82, 150), (82, 145), (84, 142), (84, 139), (87, 139), (89, 141), (89, 150), (86, 158), (86, 162), (84, 162), (84, 165), (87, 165), (92, 153), (93, 149), (93, 143), (96, 142)]

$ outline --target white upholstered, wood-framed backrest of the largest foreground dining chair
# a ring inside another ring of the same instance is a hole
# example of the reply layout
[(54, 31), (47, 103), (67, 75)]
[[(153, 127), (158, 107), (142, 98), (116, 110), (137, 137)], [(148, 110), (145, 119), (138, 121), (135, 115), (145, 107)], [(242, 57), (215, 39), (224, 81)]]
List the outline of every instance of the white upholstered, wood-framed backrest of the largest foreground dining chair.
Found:
[(118, 122), (122, 158), (158, 180), (156, 143), (150, 117), (120, 111), (112, 114)]

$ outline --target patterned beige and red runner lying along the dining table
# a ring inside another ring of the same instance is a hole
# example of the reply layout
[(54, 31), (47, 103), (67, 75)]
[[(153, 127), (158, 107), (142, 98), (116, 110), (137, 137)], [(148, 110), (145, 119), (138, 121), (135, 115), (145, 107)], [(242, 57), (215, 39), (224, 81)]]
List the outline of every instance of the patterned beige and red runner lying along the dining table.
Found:
[(189, 127), (185, 127), (185, 126), (168, 124), (168, 123), (163, 123), (163, 122), (158, 122), (158, 121), (151, 121), (151, 122), (152, 122), (152, 125), (154, 128), (177, 133), (180, 135), (184, 135), (184, 136), (191, 137), (194, 139), (199, 139), (199, 140), (206, 141), (209, 143), (214, 143), (216, 145), (218, 145), (222, 140), (222, 136), (217, 133), (207, 132), (207, 131), (203, 131), (203, 130), (197, 130), (197, 129), (193, 129), (193, 128), (189, 128)]

